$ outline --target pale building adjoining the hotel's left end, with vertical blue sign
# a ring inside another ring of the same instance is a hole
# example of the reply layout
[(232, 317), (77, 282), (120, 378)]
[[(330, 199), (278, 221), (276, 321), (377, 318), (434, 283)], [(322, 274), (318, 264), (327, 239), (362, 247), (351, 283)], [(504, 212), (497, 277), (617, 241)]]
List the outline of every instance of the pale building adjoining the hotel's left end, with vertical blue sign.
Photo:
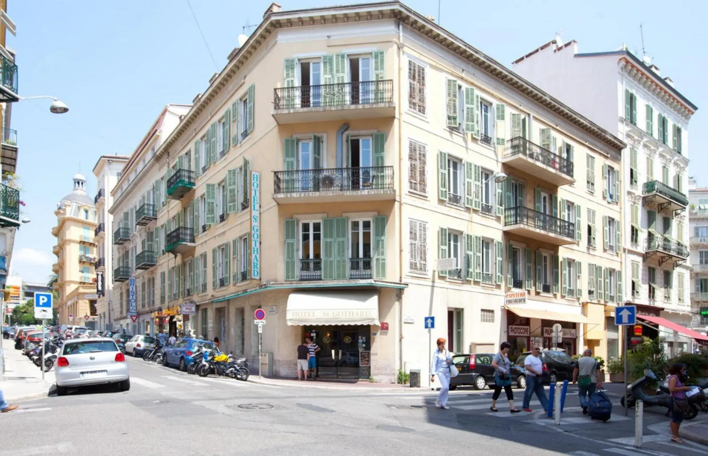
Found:
[[(130, 334), (161, 332), (165, 272), (169, 262), (160, 256), (164, 249), (156, 224), (157, 211), (166, 203), (167, 164), (156, 151), (169, 137), (190, 105), (169, 104), (149, 128), (130, 155), (115, 186), (110, 188), (113, 204), (108, 210), (113, 222), (106, 227), (113, 258), (105, 268), (112, 270), (113, 327)], [(135, 287), (131, 290), (131, 282)], [(161, 291), (162, 290), (162, 291)], [(135, 293), (135, 307), (130, 297)], [(131, 317), (132, 315), (132, 317)], [(176, 325), (176, 322), (175, 322)]]

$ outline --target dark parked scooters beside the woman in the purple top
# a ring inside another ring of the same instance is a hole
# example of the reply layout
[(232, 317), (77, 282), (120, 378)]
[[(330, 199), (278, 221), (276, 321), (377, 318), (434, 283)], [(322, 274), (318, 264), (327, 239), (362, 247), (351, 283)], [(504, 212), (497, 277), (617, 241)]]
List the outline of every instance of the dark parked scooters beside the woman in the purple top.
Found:
[[(690, 411), (684, 414), (684, 418), (687, 420), (692, 420), (698, 414), (698, 410), (702, 410), (708, 413), (708, 396), (706, 395), (706, 390), (708, 389), (708, 381), (705, 379), (700, 384), (685, 384), (687, 387), (695, 387), (698, 389), (696, 394), (692, 394), (687, 397), (688, 403), (690, 405)], [(683, 380), (682, 380), (683, 381)], [(653, 383), (658, 382), (659, 389), (656, 394), (647, 394), (646, 387)], [(648, 367), (644, 370), (644, 376), (640, 377), (631, 384), (627, 385), (627, 406), (634, 407), (636, 401), (641, 399), (644, 401), (644, 406), (659, 406), (665, 407), (667, 409), (666, 416), (669, 415), (671, 404), (671, 394), (668, 389), (668, 384), (666, 380), (659, 380), (654, 372), (652, 372)], [(622, 406), (624, 406), (624, 397), (620, 400)]]

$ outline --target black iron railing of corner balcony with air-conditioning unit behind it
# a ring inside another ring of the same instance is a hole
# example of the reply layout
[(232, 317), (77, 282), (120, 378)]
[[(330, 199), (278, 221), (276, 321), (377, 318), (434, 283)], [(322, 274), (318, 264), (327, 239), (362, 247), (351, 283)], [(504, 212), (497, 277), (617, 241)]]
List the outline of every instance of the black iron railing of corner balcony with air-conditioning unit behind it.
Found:
[(275, 193), (393, 190), (393, 166), (275, 171)]

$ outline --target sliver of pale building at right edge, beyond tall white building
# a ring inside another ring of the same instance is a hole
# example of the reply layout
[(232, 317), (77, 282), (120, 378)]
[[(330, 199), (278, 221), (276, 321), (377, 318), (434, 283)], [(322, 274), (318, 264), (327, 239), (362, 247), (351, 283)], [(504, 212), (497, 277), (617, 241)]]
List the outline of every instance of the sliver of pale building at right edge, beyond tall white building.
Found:
[(688, 179), (691, 250), (691, 329), (708, 331), (708, 188)]

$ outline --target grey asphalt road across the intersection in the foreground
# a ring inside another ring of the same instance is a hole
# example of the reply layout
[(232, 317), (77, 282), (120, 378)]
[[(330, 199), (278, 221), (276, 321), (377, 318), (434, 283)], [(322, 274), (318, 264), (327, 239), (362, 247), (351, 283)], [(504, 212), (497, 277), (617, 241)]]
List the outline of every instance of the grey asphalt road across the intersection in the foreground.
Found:
[[(647, 411), (643, 447), (634, 448), (633, 410), (625, 418), (617, 405), (607, 423), (590, 421), (573, 387), (556, 426), (535, 402), (532, 414), (509, 414), (504, 400), (491, 412), (489, 391), (451, 392), (445, 411), (435, 408), (433, 392), (273, 387), (128, 363), (129, 392), (91, 387), (1, 414), (0, 456), (708, 454), (702, 445), (668, 442), (660, 411)], [(515, 399), (520, 408), (518, 389)]]

